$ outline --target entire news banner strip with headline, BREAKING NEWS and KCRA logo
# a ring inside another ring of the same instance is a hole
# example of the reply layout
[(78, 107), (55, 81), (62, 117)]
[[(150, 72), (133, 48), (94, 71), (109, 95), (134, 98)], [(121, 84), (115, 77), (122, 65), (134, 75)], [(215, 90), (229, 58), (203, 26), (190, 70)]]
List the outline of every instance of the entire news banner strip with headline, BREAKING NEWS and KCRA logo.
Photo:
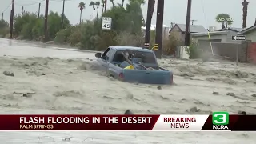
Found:
[(255, 131), (256, 115), (0, 115), (0, 130)]

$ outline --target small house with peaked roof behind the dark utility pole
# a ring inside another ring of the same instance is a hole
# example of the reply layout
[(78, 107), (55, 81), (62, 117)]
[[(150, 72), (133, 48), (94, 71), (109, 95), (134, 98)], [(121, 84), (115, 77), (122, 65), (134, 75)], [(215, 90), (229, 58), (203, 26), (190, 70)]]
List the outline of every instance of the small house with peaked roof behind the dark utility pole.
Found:
[[(175, 37), (178, 37), (181, 41), (185, 41), (185, 32), (186, 25), (185, 24), (175, 24), (169, 31), (169, 34), (174, 34)], [(201, 25), (190, 25), (190, 33), (206, 33), (207, 30)]]

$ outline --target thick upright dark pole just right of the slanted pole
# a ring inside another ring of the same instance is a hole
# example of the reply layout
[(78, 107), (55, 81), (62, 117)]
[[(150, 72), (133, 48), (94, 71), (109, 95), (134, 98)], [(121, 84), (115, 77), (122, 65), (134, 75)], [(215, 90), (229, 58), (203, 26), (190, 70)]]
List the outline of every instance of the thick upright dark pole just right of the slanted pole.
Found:
[(158, 11), (157, 11), (157, 26), (156, 26), (156, 34), (155, 34), (155, 46), (157, 50), (155, 51), (157, 58), (162, 58), (162, 27), (163, 27), (163, 9), (164, 9), (164, 1), (158, 0)]

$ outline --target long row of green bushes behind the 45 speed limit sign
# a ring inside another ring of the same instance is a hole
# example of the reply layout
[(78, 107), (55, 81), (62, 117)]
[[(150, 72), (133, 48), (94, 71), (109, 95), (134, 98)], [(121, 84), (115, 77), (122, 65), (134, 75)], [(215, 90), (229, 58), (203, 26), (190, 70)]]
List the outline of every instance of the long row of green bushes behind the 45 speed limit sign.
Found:
[[(111, 30), (102, 30), (102, 17), (112, 18)], [(50, 11), (48, 15), (48, 38), (59, 44), (70, 44), (86, 50), (106, 50), (107, 46), (142, 46), (144, 38), (141, 3), (129, 1), (126, 7), (113, 6), (101, 18), (70, 26), (69, 20)], [(0, 25), (1, 28), (1, 25)], [(44, 36), (44, 18), (25, 12), (14, 18), (14, 35), (19, 38), (41, 41)], [(0, 29), (1, 34), (1, 29)]]

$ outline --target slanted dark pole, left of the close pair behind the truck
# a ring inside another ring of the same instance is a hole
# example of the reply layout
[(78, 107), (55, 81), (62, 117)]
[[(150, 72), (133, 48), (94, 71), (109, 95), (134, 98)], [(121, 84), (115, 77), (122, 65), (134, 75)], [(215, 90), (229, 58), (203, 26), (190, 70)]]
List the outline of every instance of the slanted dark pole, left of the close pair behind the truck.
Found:
[(147, 4), (146, 30), (145, 30), (145, 43), (144, 43), (144, 47), (146, 49), (150, 47), (150, 28), (151, 28), (152, 15), (154, 13), (154, 3), (155, 3), (155, 0), (148, 0), (148, 4)]

